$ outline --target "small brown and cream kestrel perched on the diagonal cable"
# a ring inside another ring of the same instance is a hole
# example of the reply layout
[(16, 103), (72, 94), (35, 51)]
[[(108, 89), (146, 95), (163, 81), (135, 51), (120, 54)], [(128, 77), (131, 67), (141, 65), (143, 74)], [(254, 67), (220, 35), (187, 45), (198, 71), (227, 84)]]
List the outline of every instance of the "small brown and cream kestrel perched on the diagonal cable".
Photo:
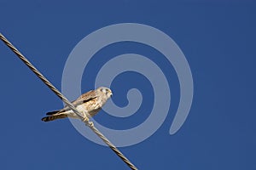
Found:
[[(112, 91), (109, 88), (101, 87), (82, 94), (78, 99), (74, 100), (72, 104), (80, 113), (85, 114), (85, 116), (90, 118), (95, 116), (96, 113), (102, 109), (102, 106), (111, 96)], [(50, 111), (46, 113), (46, 115), (47, 116), (42, 118), (42, 121), (44, 122), (66, 117), (79, 118), (79, 116), (77, 116), (68, 106), (65, 106), (59, 111)]]

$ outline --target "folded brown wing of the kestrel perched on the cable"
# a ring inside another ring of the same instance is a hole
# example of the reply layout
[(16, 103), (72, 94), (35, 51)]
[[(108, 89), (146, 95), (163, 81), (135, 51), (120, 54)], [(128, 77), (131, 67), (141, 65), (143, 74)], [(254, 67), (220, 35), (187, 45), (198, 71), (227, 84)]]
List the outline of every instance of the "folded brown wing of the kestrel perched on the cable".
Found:
[[(78, 99), (74, 100), (72, 104), (76, 107), (77, 105), (81, 105), (85, 102), (90, 101), (91, 99), (96, 99), (96, 91), (90, 90), (89, 92), (82, 94)], [(70, 108), (66, 105), (64, 107), (65, 111), (70, 110)]]

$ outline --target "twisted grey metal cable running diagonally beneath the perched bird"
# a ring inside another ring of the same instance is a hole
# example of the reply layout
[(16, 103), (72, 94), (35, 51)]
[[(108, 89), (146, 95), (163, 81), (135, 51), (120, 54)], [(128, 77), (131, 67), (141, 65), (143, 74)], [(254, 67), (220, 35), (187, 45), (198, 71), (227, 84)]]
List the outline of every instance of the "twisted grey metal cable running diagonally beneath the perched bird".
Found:
[(129, 161), (96, 127), (93, 126), (93, 123), (89, 122), (89, 119), (86, 116), (83, 116), (81, 113), (79, 113), (79, 111), (73, 106), (73, 104), (68, 101), (68, 99), (61, 94), (61, 92), (54, 87), (54, 85), (52, 83), (50, 83), (43, 75), (40, 71), (38, 71), (36, 69), (36, 67), (34, 65), (32, 65), (24, 55), (22, 55), (20, 53), (20, 51), (15, 48), (15, 46), (13, 44), (11, 44), (11, 42), (8, 41), (8, 39), (6, 39), (6, 37), (3, 36), (2, 33), (0, 33), (0, 39), (48, 86), (48, 88), (50, 88), (59, 98), (61, 98), (63, 100), (63, 102), (70, 107), (73, 112), (79, 116), (79, 118), (85, 123), (85, 125), (87, 125), (88, 127), (90, 127), (90, 129), (96, 133), (96, 135), (98, 137), (100, 137), (106, 144), (108, 144), (108, 146), (114, 151), (114, 153), (116, 155), (118, 155), (123, 161), (125, 161), (125, 163), (131, 168), (131, 169), (137, 169), (137, 167), (135, 167), (131, 161)]

